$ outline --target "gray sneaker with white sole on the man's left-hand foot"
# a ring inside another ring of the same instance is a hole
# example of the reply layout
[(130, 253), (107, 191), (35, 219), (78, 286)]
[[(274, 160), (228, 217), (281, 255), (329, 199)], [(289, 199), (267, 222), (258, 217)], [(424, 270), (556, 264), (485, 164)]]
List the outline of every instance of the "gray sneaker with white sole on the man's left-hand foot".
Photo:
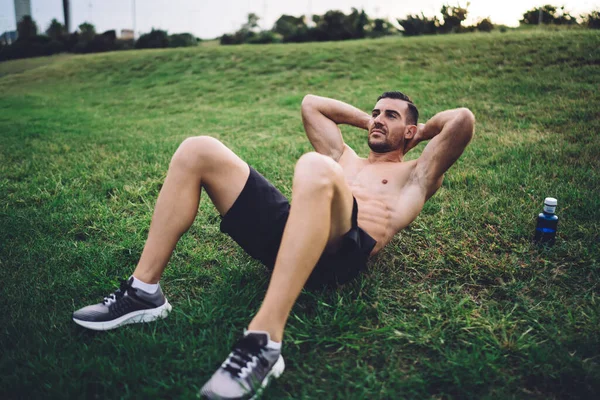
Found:
[(99, 304), (84, 307), (73, 313), (75, 323), (96, 331), (106, 331), (121, 325), (150, 322), (165, 318), (171, 305), (160, 286), (155, 293), (131, 287), (133, 277), (121, 281), (121, 287)]

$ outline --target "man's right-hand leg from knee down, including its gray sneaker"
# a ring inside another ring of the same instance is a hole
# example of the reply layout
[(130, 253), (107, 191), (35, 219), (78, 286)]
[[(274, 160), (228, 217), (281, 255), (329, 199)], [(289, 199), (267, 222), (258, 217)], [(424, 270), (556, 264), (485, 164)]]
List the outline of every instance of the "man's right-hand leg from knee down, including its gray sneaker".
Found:
[(336, 246), (352, 228), (353, 205), (335, 161), (317, 153), (298, 160), (290, 214), (267, 294), (244, 338), (202, 387), (205, 398), (248, 399), (283, 373), (278, 342), (288, 315), (323, 250)]

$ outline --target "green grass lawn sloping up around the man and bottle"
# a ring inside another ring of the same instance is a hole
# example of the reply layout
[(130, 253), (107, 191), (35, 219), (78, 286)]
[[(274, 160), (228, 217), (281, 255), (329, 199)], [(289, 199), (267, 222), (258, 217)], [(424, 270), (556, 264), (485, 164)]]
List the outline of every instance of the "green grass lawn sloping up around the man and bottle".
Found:
[[(207, 198), (162, 279), (169, 318), (94, 333), (71, 312), (132, 272), (184, 138), (219, 138), (289, 194), (302, 97), (369, 110), (390, 89), (423, 120), (469, 107), (476, 135), (368, 274), (303, 292), (264, 398), (597, 397), (599, 49), (527, 31), (0, 64), (0, 397), (195, 398), (268, 283)], [(546, 196), (550, 250), (530, 244)]]

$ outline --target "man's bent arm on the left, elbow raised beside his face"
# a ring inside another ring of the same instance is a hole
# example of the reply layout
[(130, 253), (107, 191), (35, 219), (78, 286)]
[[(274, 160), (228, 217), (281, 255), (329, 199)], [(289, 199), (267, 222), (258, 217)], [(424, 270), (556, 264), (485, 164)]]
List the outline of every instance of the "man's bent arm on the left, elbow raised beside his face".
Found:
[(302, 122), (308, 140), (318, 153), (338, 161), (344, 153), (339, 124), (368, 129), (370, 116), (349, 104), (308, 94), (302, 100)]

